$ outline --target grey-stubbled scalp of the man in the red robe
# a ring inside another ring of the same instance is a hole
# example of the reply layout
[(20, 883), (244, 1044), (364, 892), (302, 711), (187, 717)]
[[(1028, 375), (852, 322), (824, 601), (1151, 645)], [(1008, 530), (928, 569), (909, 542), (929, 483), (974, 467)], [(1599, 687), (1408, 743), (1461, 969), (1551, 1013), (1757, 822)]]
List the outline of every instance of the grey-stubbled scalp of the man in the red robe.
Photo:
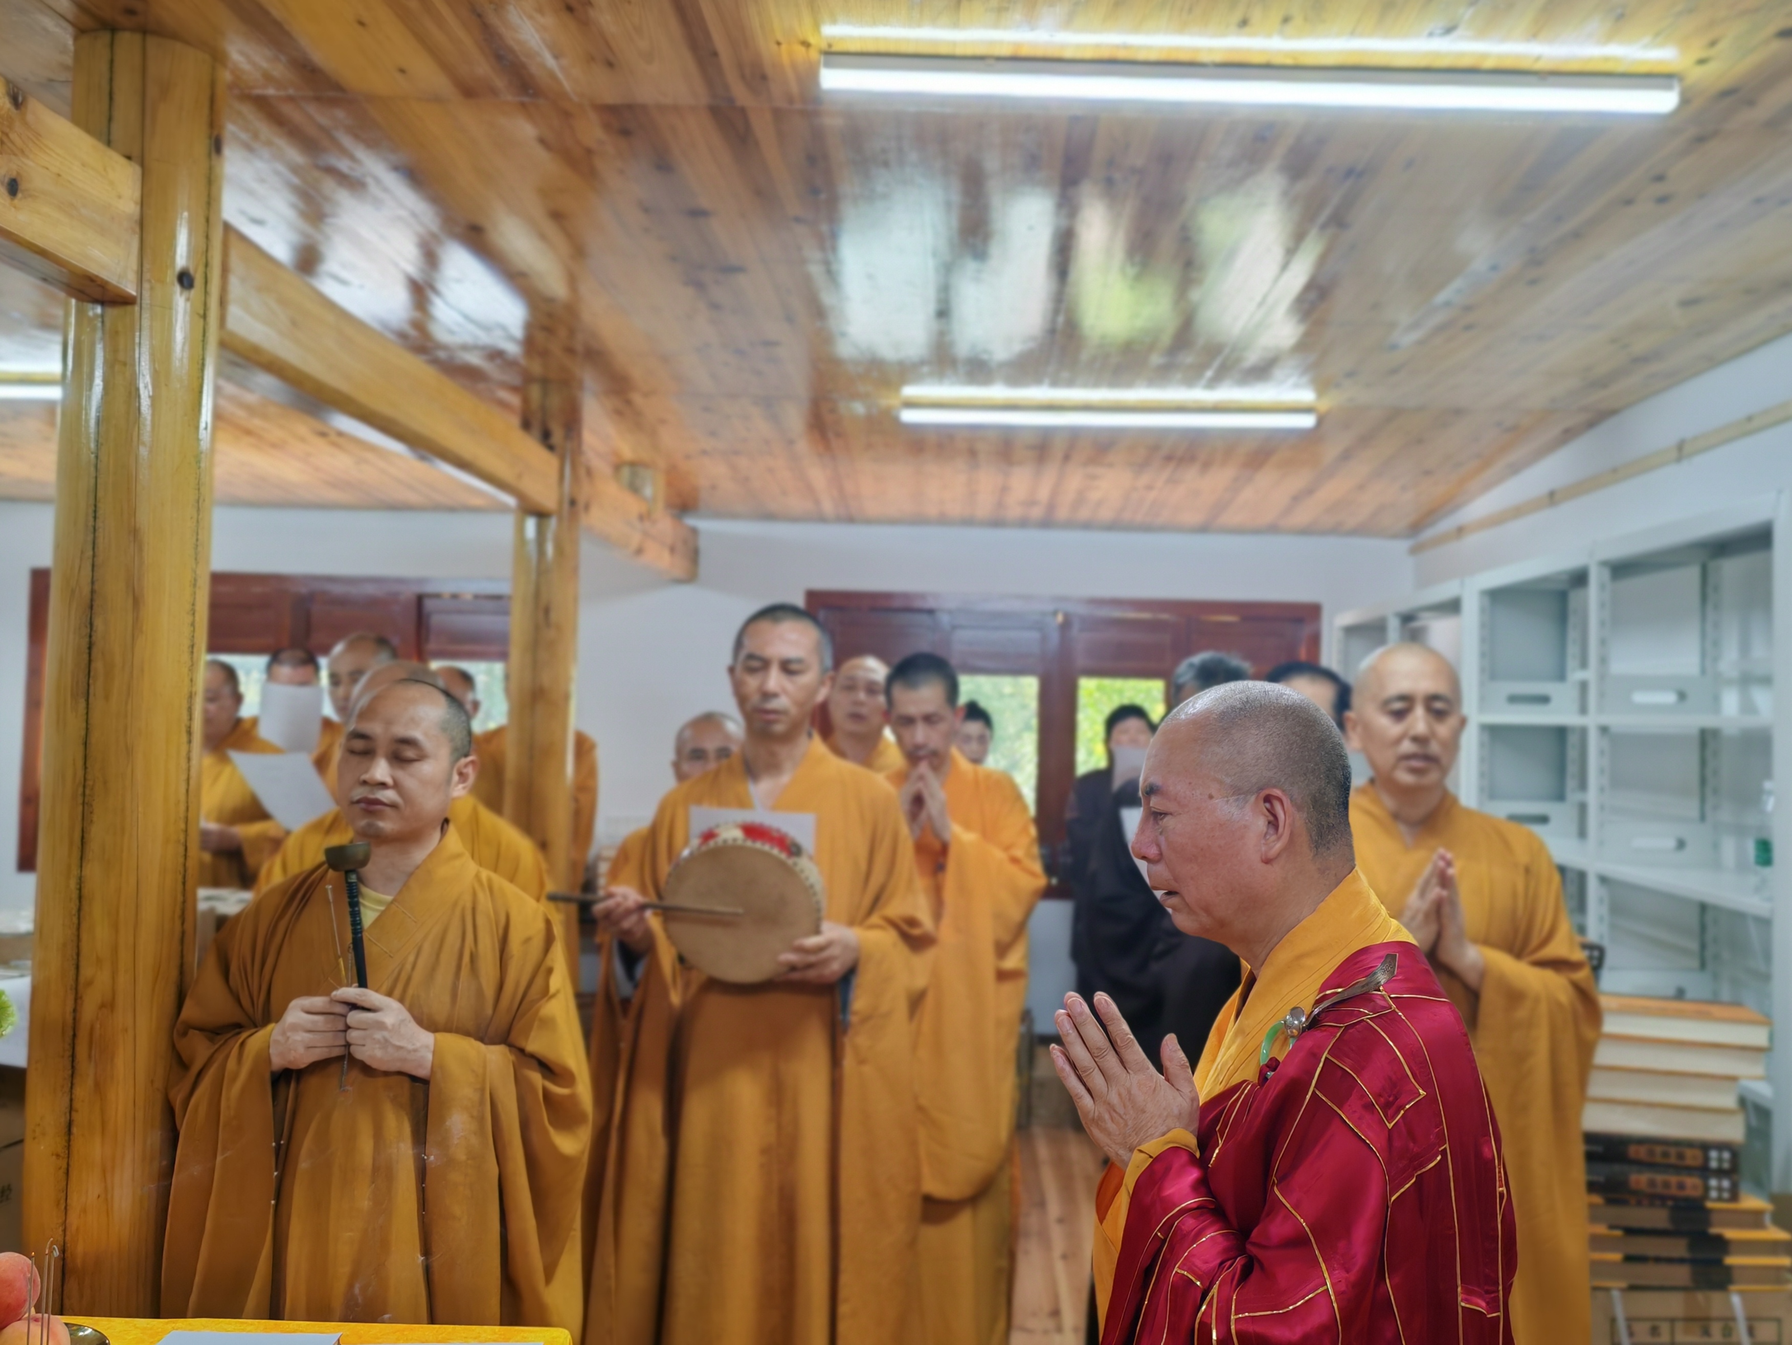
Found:
[[(1185, 700), (1158, 729), (1168, 770), (1215, 779), (1226, 797), (1281, 790), (1306, 822), (1315, 858), (1355, 856), (1349, 754), (1331, 716), (1276, 682), (1226, 682)], [(1159, 788), (1147, 781), (1147, 795)]]

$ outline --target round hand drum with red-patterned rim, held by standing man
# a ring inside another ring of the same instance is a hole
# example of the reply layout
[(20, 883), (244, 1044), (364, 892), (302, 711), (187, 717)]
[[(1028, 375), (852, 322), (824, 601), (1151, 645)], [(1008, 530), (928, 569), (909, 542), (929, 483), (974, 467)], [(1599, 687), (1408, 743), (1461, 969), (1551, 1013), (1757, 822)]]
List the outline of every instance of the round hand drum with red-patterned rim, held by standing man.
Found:
[(776, 976), (778, 956), (821, 933), (821, 870), (803, 845), (762, 822), (729, 822), (694, 840), (667, 874), (667, 937), (697, 971), (735, 985)]

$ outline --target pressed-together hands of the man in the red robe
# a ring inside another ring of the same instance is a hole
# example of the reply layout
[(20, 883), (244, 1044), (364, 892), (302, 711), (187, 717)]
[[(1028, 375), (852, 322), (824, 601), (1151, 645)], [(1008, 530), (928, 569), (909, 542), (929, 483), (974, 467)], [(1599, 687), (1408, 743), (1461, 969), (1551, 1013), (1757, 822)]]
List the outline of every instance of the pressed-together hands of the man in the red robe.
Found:
[(1082, 996), (1064, 996), (1064, 1007), (1052, 1015), (1063, 1041), (1063, 1046), (1052, 1048), (1052, 1066), (1070, 1089), (1090, 1139), (1125, 1168), (1140, 1144), (1172, 1130), (1193, 1134), (1201, 1121), (1201, 1094), (1174, 1033), (1163, 1039), (1159, 1075), (1113, 999), (1097, 994), (1095, 1014)]

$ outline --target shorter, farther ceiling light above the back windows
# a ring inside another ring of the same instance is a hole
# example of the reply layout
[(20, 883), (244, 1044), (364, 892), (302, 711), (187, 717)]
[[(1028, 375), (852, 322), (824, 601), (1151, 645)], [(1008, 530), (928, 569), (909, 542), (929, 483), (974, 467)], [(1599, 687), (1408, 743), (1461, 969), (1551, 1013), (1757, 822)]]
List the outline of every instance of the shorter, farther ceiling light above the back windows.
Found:
[(901, 390), (903, 424), (1032, 430), (1312, 430), (1312, 394), (1226, 389), (928, 387)]

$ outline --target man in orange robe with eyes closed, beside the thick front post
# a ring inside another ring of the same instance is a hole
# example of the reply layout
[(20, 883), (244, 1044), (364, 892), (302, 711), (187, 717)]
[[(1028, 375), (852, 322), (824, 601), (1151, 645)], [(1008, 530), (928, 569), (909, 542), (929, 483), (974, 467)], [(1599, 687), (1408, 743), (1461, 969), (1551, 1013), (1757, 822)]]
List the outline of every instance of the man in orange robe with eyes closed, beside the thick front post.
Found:
[(174, 1032), (163, 1311), (579, 1338), (579, 1014), (550, 913), (446, 826), (471, 747), (423, 682), (351, 718), (337, 784), (371, 847), (369, 989), (323, 865), (206, 953)]

